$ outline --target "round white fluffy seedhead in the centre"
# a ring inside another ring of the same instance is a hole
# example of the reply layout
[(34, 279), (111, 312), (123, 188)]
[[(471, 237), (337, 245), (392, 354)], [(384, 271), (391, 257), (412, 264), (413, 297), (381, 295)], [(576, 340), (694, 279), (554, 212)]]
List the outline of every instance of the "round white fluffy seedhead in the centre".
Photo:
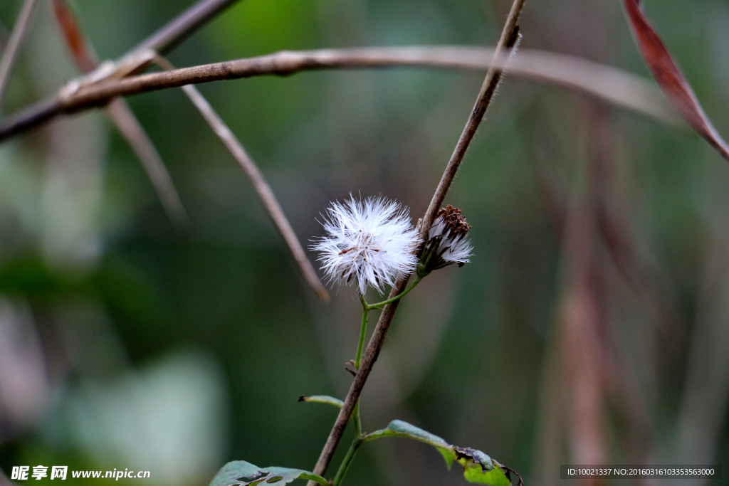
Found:
[(399, 203), (350, 196), (332, 203), (323, 216), (327, 235), (311, 249), (321, 252), (317, 260), (330, 282), (356, 283), (362, 295), (372, 286), (382, 294), (385, 285), (415, 269), (418, 233)]

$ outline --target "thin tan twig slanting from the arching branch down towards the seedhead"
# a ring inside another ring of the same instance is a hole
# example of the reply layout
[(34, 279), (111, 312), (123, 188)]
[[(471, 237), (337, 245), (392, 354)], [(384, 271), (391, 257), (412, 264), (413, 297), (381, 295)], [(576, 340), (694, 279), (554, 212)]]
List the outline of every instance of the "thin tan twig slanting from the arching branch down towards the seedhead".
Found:
[[(155, 62), (163, 69), (174, 69), (174, 66), (161, 56), (157, 56)], [(311, 262), (306, 257), (306, 253), (301, 247), (298, 238), (296, 238), (294, 229), (289, 224), (289, 220), (286, 219), (286, 215), (284, 215), (284, 210), (278, 204), (276, 195), (273, 194), (273, 190), (268, 185), (256, 162), (249, 156), (246, 149), (243, 148), (241, 141), (235, 137), (230, 128), (228, 128), (213, 107), (210, 106), (210, 103), (208, 103), (197, 87), (186, 85), (182, 87), (182, 90), (187, 95), (187, 98), (190, 98), (190, 101), (192, 101), (198, 111), (200, 111), (200, 114), (203, 115), (203, 118), (205, 118), (208, 125), (210, 125), (218, 138), (220, 138), (220, 141), (226, 146), (230, 154), (233, 155), (233, 158), (238, 162), (243, 173), (251, 179), (251, 183), (254, 189), (256, 189), (263, 206), (266, 208), (268, 216), (270, 216), (274, 226), (276, 226), (276, 229), (281, 234), (281, 238), (284, 238), (286, 246), (289, 247), (292, 256), (299, 265), (303, 277), (316, 293), (316, 297), (319, 297), (321, 302), (327, 302), (329, 300), (327, 288), (324, 287), (324, 284), (319, 280), (319, 276), (316, 275), (316, 270), (311, 266)]]

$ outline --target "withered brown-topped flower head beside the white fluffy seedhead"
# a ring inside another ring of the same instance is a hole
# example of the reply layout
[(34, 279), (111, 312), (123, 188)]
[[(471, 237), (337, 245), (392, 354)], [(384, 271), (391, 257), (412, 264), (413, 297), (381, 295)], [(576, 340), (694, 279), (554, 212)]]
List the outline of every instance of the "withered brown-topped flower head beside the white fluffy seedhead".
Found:
[(433, 270), (457, 263), (459, 267), (469, 263), (473, 247), (468, 240), (471, 225), (461, 215), (461, 210), (448, 205), (438, 210), (428, 240), (418, 255), (418, 276), (424, 277)]

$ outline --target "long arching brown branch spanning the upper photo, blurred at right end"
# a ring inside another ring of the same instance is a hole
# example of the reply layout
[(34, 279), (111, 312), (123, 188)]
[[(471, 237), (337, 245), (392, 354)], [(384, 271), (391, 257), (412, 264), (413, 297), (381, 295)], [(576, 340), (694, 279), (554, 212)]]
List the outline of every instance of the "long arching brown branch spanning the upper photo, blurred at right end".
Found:
[[(0, 125), (0, 140), (33, 128), (63, 113), (107, 103), (117, 96), (136, 95), (188, 84), (254, 76), (287, 76), (316, 69), (386, 68), (395, 66), (485, 71), (504, 67), (506, 58), (494, 57), (486, 47), (369, 47), (344, 50), (276, 52), (256, 58), (181, 68), (125, 79), (106, 79), (60, 95), (9, 117)], [(662, 122), (677, 124), (679, 117), (655, 85), (617, 68), (554, 52), (521, 50), (510, 63), (519, 77), (566, 87), (608, 103), (639, 111)]]

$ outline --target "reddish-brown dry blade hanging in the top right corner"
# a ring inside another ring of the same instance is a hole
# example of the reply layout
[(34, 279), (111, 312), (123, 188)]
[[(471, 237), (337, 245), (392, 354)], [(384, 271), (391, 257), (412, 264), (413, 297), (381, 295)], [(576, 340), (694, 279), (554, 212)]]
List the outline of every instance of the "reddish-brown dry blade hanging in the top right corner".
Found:
[(623, 0), (639, 50), (668, 101), (689, 125), (729, 161), (729, 145), (717, 133), (693, 89), (642, 12), (639, 0)]

